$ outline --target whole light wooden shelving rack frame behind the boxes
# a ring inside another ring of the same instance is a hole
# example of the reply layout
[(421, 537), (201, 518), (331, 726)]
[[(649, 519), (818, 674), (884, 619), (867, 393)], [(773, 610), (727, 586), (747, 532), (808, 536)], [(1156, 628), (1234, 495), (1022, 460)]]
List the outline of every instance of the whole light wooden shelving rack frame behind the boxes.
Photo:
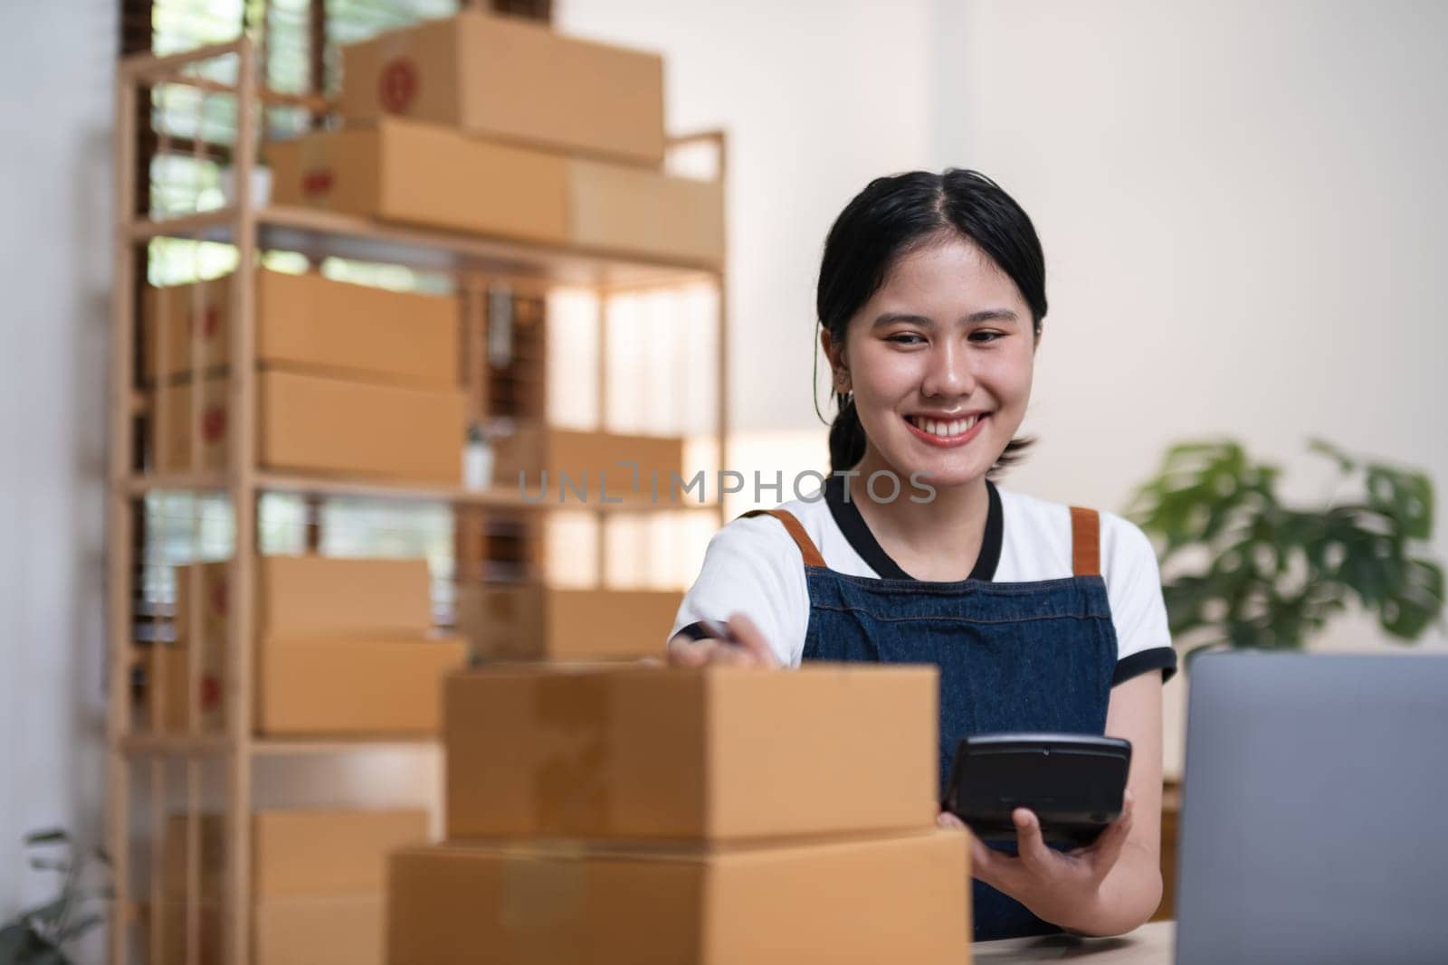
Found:
[[(323, 10), (324, 4), (313, 3), (314, 10)], [(324, 13), (324, 10), (323, 10)], [(262, 29), (265, 32), (265, 19)], [(314, 25), (316, 26), (316, 25)], [(321, 25), (326, 26), (324, 23)], [(326, 36), (323, 29), (320, 36)], [(665, 501), (652, 501), (649, 483), (644, 482), (643, 493), (610, 493), (610, 502), (599, 501), (597, 483), (591, 488), (589, 502), (576, 496), (565, 502), (557, 501), (557, 492), (547, 493), (539, 502), (529, 502), (524, 495), (539, 496), (536, 488), (518, 492), (514, 480), (504, 480), (502, 485), (473, 490), (460, 486), (462, 466), (458, 469), (458, 480), (443, 485), (418, 485), (385, 479), (368, 479), (346, 475), (314, 475), (279, 472), (259, 466), (253, 440), (258, 438), (258, 386), (253, 379), (240, 379), (233, 383), (236, 395), (232, 398), (235, 407), (229, 411), (224, 444), (224, 457), (219, 457), (213, 464), (216, 469), (195, 472), (138, 472), (136, 466), (155, 464), (156, 449), (155, 435), (159, 435), (156, 420), (146, 424), (148, 392), (136, 385), (138, 341), (145, 341), (142, 320), (138, 308), (142, 305), (142, 288), (148, 279), (151, 250), (148, 242), (159, 237), (181, 237), (211, 240), (230, 245), (236, 253), (235, 279), (227, 291), (227, 357), (237, 366), (252, 366), (256, 362), (258, 340), (258, 310), (256, 289), (252, 285), (255, 272), (262, 266), (261, 255), (268, 250), (300, 252), (313, 262), (334, 256), (359, 262), (374, 262), (382, 265), (401, 265), (423, 271), (436, 271), (453, 275), (459, 291), (459, 330), (462, 347), (466, 349), (465, 362), (459, 365), (459, 379), (468, 385), (469, 412), (472, 418), (487, 414), (492, 415), (531, 415), (542, 408), (537, 398), (530, 396), (524, 405), (513, 395), (498, 392), (502, 396), (495, 399), (488, 392), (502, 388), (524, 385), (542, 385), (543, 360), (547, 357), (546, 340), (539, 336), (537, 344), (518, 343), (520, 362), (505, 370), (489, 370), (487, 378), (481, 372), (479, 362), (485, 357), (485, 333), (488, 330), (489, 313), (494, 310), (492, 297), (504, 294), (513, 298), (514, 308), (518, 302), (537, 299), (542, 294), (553, 288), (586, 288), (598, 295), (594, 299), (594, 326), (597, 328), (597, 408), (608, 412), (610, 401), (610, 324), (608, 297), (617, 292), (633, 292), (640, 289), (666, 289), (682, 285), (701, 285), (711, 288), (714, 299), (712, 314), (717, 323), (715, 359), (717, 376), (714, 378), (718, 408), (715, 425), (710, 434), (718, 446), (720, 464), (724, 464), (724, 446), (730, 435), (728, 407), (725, 386), (728, 386), (730, 341), (728, 341), (728, 289), (725, 285), (725, 263), (723, 259), (646, 256), (620, 250), (598, 247), (575, 247), (568, 245), (546, 245), (523, 242), (508, 237), (475, 234), (468, 231), (436, 230), (417, 226), (382, 223), (371, 217), (358, 217), (334, 211), (314, 210), (310, 207), (258, 207), (256, 197), (249, 191), (233, 195), (229, 207), (211, 211), (181, 214), (167, 218), (151, 218), (138, 211), (148, 210), (145, 188), (153, 153), (158, 146), (153, 139), (145, 136), (148, 124), (153, 127), (152, 90), (164, 84), (190, 84), (201, 94), (224, 97), (229, 90), (236, 91), (235, 139), (226, 145), (217, 145), (222, 150), (213, 152), (216, 159), (229, 159), (239, 185), (252, 184), (256, 172), (256, 158), (259, 156), (261, 140), (264, 139), (266, 104), (291, 104), (300, 109), (321, 109), (324, 103), (307, 97), (275, 95), (265, 90), (265, 65), (258, 55), (259, 51), (249, 36), (239, 36), (229, 43), (200, 48), (185, 54), (169, 56), (136, 55), (125, 58), (120, 64), (116, 84), (116, 191), (113, 198), (111, 230), (116, 239), (116, 265), (113, 272), (111, 291), (111, 359), (110, 359), (110, 417), (109, 417), (109, 463), (107, 463), (107, 652), (109, 652), (109, 702), (107, 702), (107, 842), (113, 859), (116, 896), (114, 901), (123, 910), (126, 920), (136, 920), (135, 910), (139, 907), (135, 900), (135, 885), (138, 881), (152, 878), (158, 872), (151, 862), (161, 859), (161, 854), (153, 846), (146, 846), (138, 841), (138, 829), (146, 823), (159, 826), (164, 816), (177, 802), (167, 786), (178, 770), (185, 774), (185, 810), (200, 813), (204, 807), (216, 810), (216, 803), (206, 791), (207, 781), (216, 774), (224, 775), (224, 803), (220, 812), (237, 820), (229, 820), (226, 829), (224, 858), (222, 861), (224, 887), (219, 901), (219, 913), (224, 927), (222, 929), (222, 943), (217, 948), (217, 961), (226, 965), (243, 965), (252, 961), (251, 926), (255, 909), (252, 907), (253, 872), (245, 855), (251, 854), (252, 828), (251, 822), (242, 820), (245, 815), (255, 809), (258, 796), (253, 794), (256, 777), (266, 771), (264, 758), (294, 758), (301, 762), (320, 762), (324, 757), (404, 752), (404, 754), (440, 754), (443, 751), (439, 735), (400, 735), (400, 734), (371, 734), (356, 736), (298, 736), (278, 738), (262, 736), (249, 729), (239, 731), (198, 731), (198, 732), (135, 732), (140, 722), (135, 712), (136, 702), (136, 658), (142, 645), (135, 639), (138, 619), (152, 616), (153, 626), (162, 625), (167, 611), (161, 609), (167, 603), (158, 598), (155, 586), (145, 583), (151, 574), (143, 569), (149, 558), (146, 553), (152, 548), (152, 541), (171, 538), (169, 531), (148, 532), (148, 515), (138, 512), (138, 499), (152, 492), (191, 492), (217, 493), (227, 499), (235, 498), (230, 505), (230, 518), (223, 521), (230, 531), (230, 556), (236, 561), (233, 570), (235, 582), (227, 584), (224, 628), (220, 629), (219, 641), (223, 652), (236, 657), (242, 654), (248, 641), (255, 641), (258, 634), (258, 580), (249, 566), (242, 561), (255, 560), (259, 553), (261, 527), (258, 521), (258, 501), (253, 498), (265, 492), (295, 493), (313, 498), (359, 498), (378, 501), (411, 501), (414, 503), (433, 503), (456, 506), (456, 519), (460, 525), (458, 532), (469, 531), (475, 527), (482, 532), (482, 538), (497, 538), (500, 541), (514, 541), (508, 545), (504, 566), (517, 567), (520, 573), (537, 574), (542, 553), (542, 541), (537, 540), (540, 524), (549, 519), (546, 515), (529, 514), (524, 511), (542, 512), (582, 512), (582, 514), (679, 514), (685, 511), (702, 509), (718, 514), (723, 524), (723, 502), (715, 495), (714, 502), (701, 503), (689, 492), (673, 493), (672, 488), (663, 486)], [(193, 65), (222, 56), (236, 59), (236, 82), (222, 84), (200, 77), (191, 71)], [(319, 54), (320, 56), (320, 54)], [(182, 72), (187, 75), (182, 77)], [(718, 181), (723, 187), (727, 182), (727, 150), (723, 132), (704, 132), (692, 137), (707, 140), (718, 148)], [(175, 139), (174, 148), (182, 140)], [(688, 139), (685, 139), (688, 140)], [(213, 156), (207, 152), (211, 145), (187, 140), (187, 146), (198, 156)], [(139, 188), (139, 190), (138, 190)], [(497, 291), (501, 286), (510, 292)], [(517, 321), (517, 318), (514, 320)], [(198, 330), (193, 327), (193, 333)], [(520, 328), (521, 330), (521, 328)], [(465, 375), (466, 373), (466, 375)], [(524, 375), (527, 379), (524, 379)], [(544, 386), (546, 388), (546, 386)], [(531, 389), (530, 389), (531, 391)], [(546, 396), (544, 396), (546, 398)], [(143, 446), (151, 446), (151, 457), (138, 460), (138, 453)], [(200, 464), (200, 457), (195, 464)], [(175, 463), (190, 466), (191, 463)], [(620, 479), (623, 480), (623, 477)], [(630, 480), (631, 482), (631, 480)], [(666, 501), (673, 495), (673, 502)], [(617, 501), (614, 501), (617, 499)], [(468, 509), (489, 509), (507, 512), (468, 512)], [(198, 511), (198, 508), (194, 508)], [(323, 530), (321, 514), (308, 512), (306, 521), (306, 537), (308, 548), (319, 550)], [(502, 518), (508, 516), (508, 518)], [(617, 518), (617, 516), (615, 516)], [(193, 519), (193, 524), (198, 522)], [(502, 524), (507, 524), (505, 527)], [(511, 530), (505, 535), (488, 535), (488, 527)], [(681, 527), (682, 528), (682, 527)], [(608, 548), (613, 527), (601, 527), (599, 538), (591, 540), (591, 551), (595, 554), (595, 566), (599, 574), (608, 571)], [(180, 557), (204, 558), (201, 547), (203, 528), (193, 525), (190, 543), (191, 553), (181, 553)], [(210, 538), (207, 535), (207, 538)], [(455, 538), (455, 544), (458, 540)], [(501, 545), (501, 543), (500, 543)], [(582, 550), (579, 550), (582, 551)], [(201, 616), (197, 608), (190, 612), (190, 619)], [(175, 615), (171, 613), (175, 626)], [(152, 631), (155, 632), (155, 631)], [(200, 638), (206, 638), (203, 628)], [(193, 639), (193, 642), (195, 642)], [(194, 680), (200, 674), (201, 661), (191, 661), (185, 673)], [(237, 712), (252, 706), (256, 689), (259, 667), (255, 658), (227, 660), (223, 697), (227, 707)], [(164, 676), (165, 671), (156, 676)], [(146, 683), (151, 683), (149, 680)], [(203, 693), (206, 693), (203, 690)], [(194, 703), (195, 696), (190, 700)], [(151, 718), (146, 718), (148, 720)], [(193, 718), (194, 719), (194, 718)], [(253, 725), (248, 719), (237, 716), (226, 718), (233, 726), (240, 723)], [(275, 775), (272, 775), (275, 777)], [(151, 784), (151, 793), (136, 794)], [(180, 790), (180, 788), (177, 788)], [(349, 797), (343, 794), (342, 797)], [(138, 804), (145, 800), (148, 807), (139, 810)], [(340, 803), (340, 802), (339, 802)], [(140, 871), (142, 874), (136, 874)], [(152, 910), (153, 911), (153, 910)], [(135, 961), (135, 929), (113, 927), (109, 940), (109, 961), (111, 965), (129, 965)], [(158, 948), (151, 949), (155, 958)]]

